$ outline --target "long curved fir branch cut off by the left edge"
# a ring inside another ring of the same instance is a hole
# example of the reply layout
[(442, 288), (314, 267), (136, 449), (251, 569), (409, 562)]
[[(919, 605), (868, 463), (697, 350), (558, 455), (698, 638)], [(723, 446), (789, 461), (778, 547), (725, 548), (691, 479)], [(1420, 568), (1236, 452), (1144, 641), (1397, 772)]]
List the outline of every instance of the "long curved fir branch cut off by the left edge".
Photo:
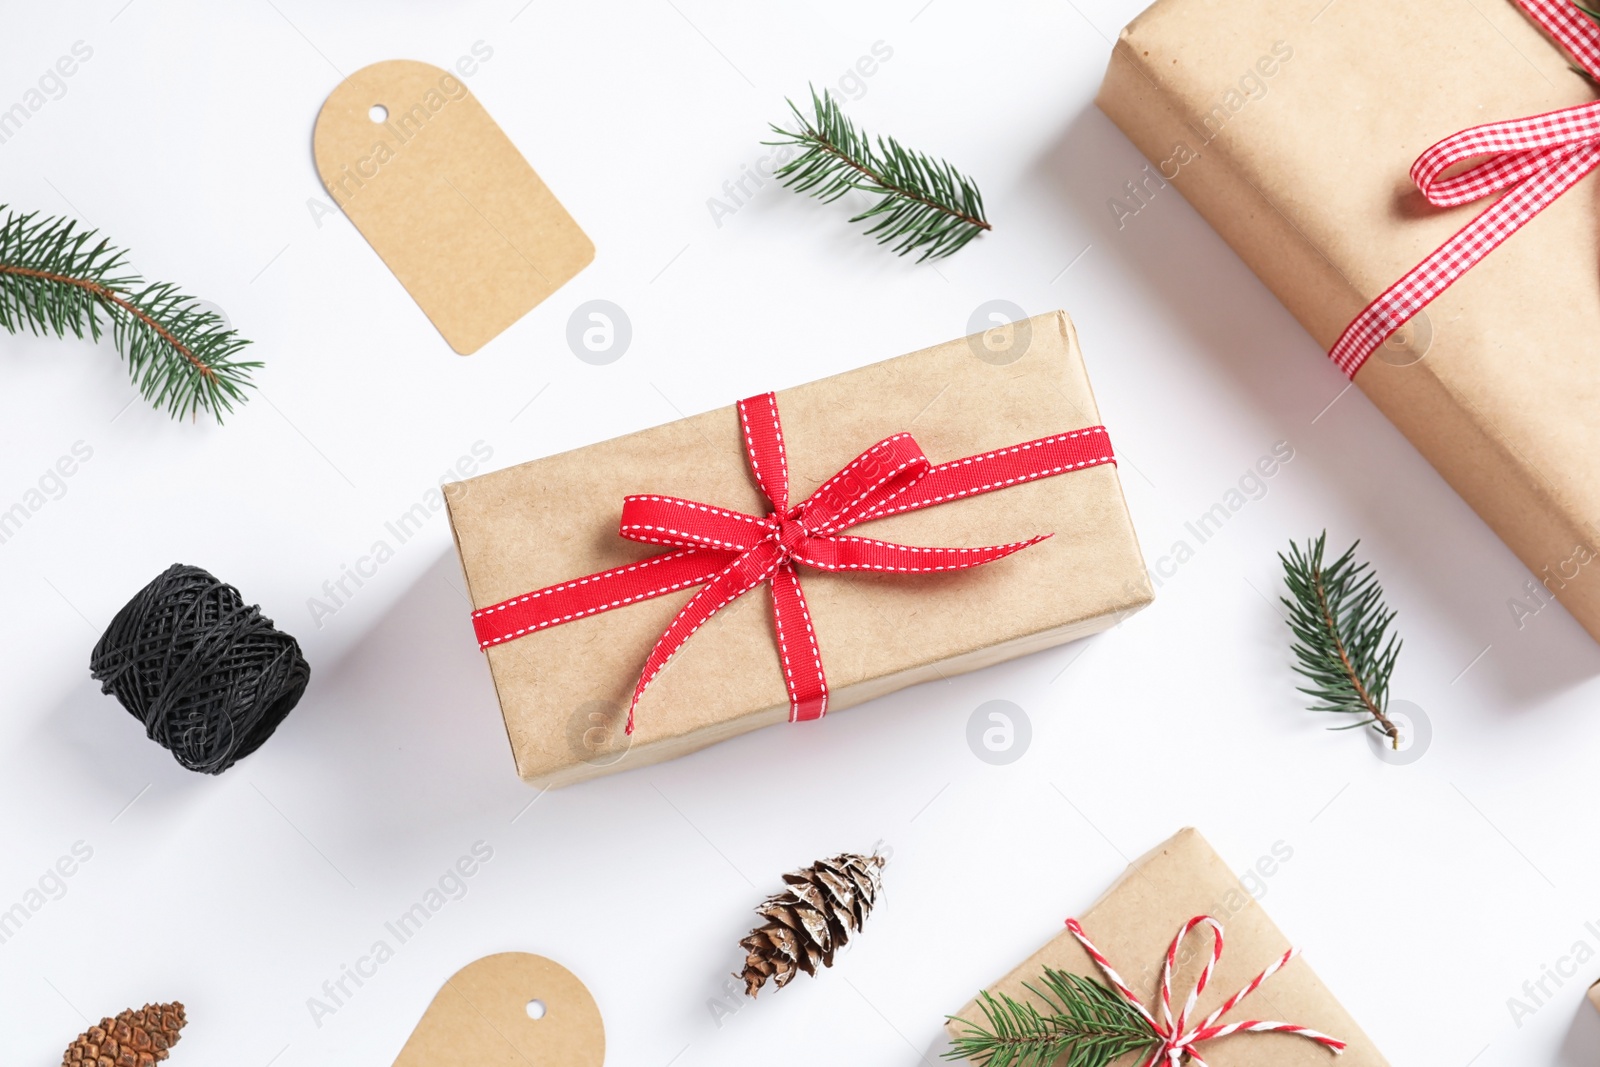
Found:
[(221, 315), (174, 285), (146, 282), (126, 253), (72, 219), (6, 205), (0, 214), (0, 326), (93, 341), (109, 326), (139, 394), (174, 418), (208, 411), (221, 422), (245, 400), (261, 363), (235, 358), (250, 342)]

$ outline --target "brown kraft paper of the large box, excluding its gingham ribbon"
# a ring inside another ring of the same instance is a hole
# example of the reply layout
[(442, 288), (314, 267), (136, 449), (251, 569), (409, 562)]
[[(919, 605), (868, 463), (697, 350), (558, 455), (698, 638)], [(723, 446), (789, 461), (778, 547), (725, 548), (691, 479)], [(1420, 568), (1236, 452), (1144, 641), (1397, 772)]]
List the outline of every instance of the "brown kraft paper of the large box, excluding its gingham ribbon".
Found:
[[(1429, 205), (1408, 179), (1418, 155), (1592, 101), (1570, 62), (1512, 0), (1158, 0), (1123, 30), (1098, 102), (1152, 162), (1144, 195), (1170, 181), (1331, 349), (1494, 200)], [(1355, 384), (1600, 638), (1594, 181), (1467, 270)]]

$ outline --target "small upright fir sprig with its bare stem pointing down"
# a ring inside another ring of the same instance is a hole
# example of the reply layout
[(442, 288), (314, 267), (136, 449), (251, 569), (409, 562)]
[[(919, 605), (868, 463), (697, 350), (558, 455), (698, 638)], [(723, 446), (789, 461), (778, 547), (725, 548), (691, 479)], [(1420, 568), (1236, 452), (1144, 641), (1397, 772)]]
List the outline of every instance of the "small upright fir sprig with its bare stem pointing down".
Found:
[(1278, 553), (1290, 597), (1290, 630), (1294, 632), (1294, 670), (1310, 680), (1301, 693), (1318, 702), (1314, 712), (1358, 715), (1360, 721), (1334, 729), (1371, 726), (1400, 747), (1400, 728), (1389, 718), (1389, 678), (1400, 656), (1400, 638), (1389, 633), (1395, 613), (1384, 605), (1378, 574), (1355, 563), (1357, 541), (1330, 566), (1323, 566), (1328, 531), (1306, 549), (1290, 542)]

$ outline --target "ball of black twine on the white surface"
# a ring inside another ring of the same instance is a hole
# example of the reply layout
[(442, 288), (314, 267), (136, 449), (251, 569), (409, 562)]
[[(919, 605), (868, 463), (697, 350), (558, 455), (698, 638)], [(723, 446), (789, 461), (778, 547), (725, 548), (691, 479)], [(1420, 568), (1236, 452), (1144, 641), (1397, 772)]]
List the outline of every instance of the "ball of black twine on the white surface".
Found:
[(117, 613), (90, 673), (190, 771), (221, 774), (272, 736), (310, 665), (293, 637), (198, 566), (173, 563)]

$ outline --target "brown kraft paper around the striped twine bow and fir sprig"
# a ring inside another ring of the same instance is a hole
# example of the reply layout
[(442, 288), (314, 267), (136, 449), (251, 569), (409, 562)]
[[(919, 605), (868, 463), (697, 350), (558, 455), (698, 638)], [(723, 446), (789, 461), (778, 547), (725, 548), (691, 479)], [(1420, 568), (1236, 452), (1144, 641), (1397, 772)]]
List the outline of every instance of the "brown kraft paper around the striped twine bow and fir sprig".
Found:
[[(1290, 949), (1290, 942), (1272, 918), (1198, 830), (1179, 830), (1141, 856), (1090, 910), (1080, 912), (1077, 918), (1094, 945), (1144, 1000), (1146, 1008), (1160, 1019), (1162, 961), (1173, 944), (1173, 936), (1195, 915), (1211, 915), (1227, 933), (1222, 961), (1190, 1016), (1192, 1021), (1198, 1021)], [(1173, 998), (1178, 1005), (1194, 989), (1210, 957), (1211, 937), (1205, 929), (1197, 929), (1184, 939), (1181, 966), (1173, 974)], [(1104, 982), (1104, 976), (1083, 945), (1062, 929), (1022, 966), (989, 987), (989, 992), (1037, 1001), (1022, 985), (1037, 984), (1046, 966)], [(984, 1016), (973, 1000), (962, 1008), (957, 1019), (982, 1024)], [(1222, 1016), (1221, 1022), (1240, 1019), (1293, 1022), (1336, 1037), (1349, 1046), (1334, 1056), (1330, 1049), (1291, 1033), (1235, 1033), (1198, 1048), (1211, 1067), (1386, 1067), (1389, 1062), (1373, 1046), (1371, 1038), (1355, 1025), (1350, 1013), (1317, 979), (1304, 957), (1296, 957), (1269, 977), (1230, 1014)], [(954, 1037), (965, 1027), (952, 1021), (946, 1029)], [(1139, 1062), (1138, 1056), (1117, 1061), (1118, 1067), (1123, 1064), (1138, 1067)]]

